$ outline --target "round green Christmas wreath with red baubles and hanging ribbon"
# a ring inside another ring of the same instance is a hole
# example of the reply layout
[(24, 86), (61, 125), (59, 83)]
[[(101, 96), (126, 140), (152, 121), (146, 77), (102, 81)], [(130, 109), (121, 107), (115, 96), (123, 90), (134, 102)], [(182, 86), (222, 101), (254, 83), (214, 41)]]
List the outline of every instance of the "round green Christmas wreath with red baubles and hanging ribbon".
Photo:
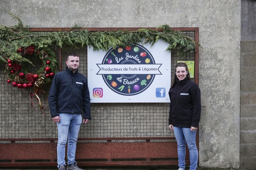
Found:
[[(34, 87), (33, 95), (37, 97), (39, 107), (43, 109), (38, 91), (43, 84), (51, 83), (52, 77), (58, 71), (56, 56), (48, 47), (40, 49), (31, 45), (19, 47), (16, 52), (18, 56), (23, 58), (38, 57), (42, 61), (42, 66), (35, 73), (31, 73), (28, 71), (28, 68), (24, 67), (24, 62), (17, 59), (17, 57), (10, 56), (5, 66), (5, 72), (8, 72), (7, 83), (12, 83), (12, 86), (17, 88)], [(33, 63), (31, 64), (33, 65)]]

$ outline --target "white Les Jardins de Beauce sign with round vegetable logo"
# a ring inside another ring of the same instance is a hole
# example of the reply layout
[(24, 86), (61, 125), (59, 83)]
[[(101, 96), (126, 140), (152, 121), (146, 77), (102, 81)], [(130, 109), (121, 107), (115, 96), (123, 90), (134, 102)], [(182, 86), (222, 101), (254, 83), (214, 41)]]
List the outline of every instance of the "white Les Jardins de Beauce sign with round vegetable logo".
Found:
[(169, 44), (131, 44), (108, 52), (88, 48), (88, 87), (92, 103), (170, 102)]

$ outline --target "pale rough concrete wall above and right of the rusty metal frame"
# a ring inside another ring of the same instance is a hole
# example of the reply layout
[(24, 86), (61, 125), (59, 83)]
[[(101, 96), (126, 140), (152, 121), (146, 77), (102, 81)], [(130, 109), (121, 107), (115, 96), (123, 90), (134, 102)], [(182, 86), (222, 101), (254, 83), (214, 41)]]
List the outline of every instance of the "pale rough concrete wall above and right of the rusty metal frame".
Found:
[(239, 168), (240, 0), (0, 0), (0, 24), (30, 27), (199, 27), (199, 165)]

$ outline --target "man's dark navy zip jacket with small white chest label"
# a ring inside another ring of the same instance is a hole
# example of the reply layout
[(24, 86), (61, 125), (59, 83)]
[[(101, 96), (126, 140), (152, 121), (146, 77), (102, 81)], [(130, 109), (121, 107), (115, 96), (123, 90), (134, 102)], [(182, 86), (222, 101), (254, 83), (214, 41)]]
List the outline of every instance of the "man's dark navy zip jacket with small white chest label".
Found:
[(91, 119), (87, 80), (78, 70), (73, 73), (66, 67), (65, 71), (57, 73), (53, 77), (48, 99), (52, 117), (59, 116), (59, 113), (81, 114), (83, 109), (83, 118)]

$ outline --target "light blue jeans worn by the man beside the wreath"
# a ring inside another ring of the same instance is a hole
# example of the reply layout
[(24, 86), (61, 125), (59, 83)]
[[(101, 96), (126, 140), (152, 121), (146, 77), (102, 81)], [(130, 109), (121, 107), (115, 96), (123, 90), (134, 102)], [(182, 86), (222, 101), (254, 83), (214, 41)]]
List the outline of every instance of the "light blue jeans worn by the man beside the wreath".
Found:
[(82, 123), (81, 114), (59, 113), (57, 157), (58, 166), (65, 165), (65, 146), (68, 140), (68, 164), (75, 162), (78, 132)]

